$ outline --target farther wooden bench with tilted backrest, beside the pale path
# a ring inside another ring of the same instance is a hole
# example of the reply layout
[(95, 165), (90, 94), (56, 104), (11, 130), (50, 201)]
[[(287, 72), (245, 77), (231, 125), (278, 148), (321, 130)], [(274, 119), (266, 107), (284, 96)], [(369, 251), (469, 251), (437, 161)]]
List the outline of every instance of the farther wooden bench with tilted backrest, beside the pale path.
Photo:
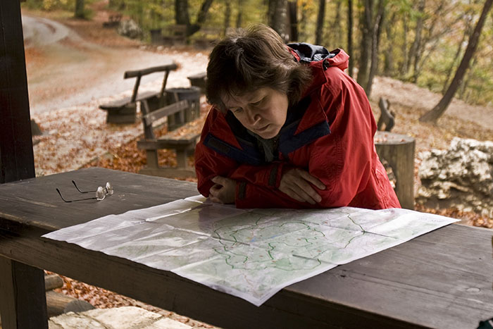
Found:
[[(131, 97), (125, 97), (118, 101), (112, 101), (108, 104), (101, 104), (99, 108), (108, 111), (106, 123), (135, 123), (137, 113), (137, 101), (146, 101), (149, 108), (161, 108), (165, 104), (164, 93), (166, 91), (166, 82), (171, 70), (176, 70), (177, 65), (171, 63), (164, 66), (154, 66), (142, 70), (129, 70), (123, 75), (124, 79), (135, 77), (135, 85)], [(140, 81), (144, 75), (151, 73), (164, 72), (163, 85), (159, 92), (144, 92), (139, 94)]]

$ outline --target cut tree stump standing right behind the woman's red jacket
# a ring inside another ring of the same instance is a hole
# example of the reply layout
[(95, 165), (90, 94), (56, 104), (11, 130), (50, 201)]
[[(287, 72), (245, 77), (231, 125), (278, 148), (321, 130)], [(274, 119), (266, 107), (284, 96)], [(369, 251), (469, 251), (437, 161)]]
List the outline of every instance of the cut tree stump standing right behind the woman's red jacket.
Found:
[(408, 135), (377, 131), (375, 147), (380, 159), (392, 167), (395, 192), (402, 208), (414, 209), (414, 149), (416, 141)]

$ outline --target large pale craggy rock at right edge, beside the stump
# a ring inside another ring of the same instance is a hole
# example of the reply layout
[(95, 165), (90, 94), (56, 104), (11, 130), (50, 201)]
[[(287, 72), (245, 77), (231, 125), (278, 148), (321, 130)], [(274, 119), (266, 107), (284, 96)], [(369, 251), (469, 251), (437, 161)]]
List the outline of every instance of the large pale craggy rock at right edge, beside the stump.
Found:
[(434, 149), (420, 156), (417, 203), (493, 218), (493, 142), (455, 137), (449, 149)]

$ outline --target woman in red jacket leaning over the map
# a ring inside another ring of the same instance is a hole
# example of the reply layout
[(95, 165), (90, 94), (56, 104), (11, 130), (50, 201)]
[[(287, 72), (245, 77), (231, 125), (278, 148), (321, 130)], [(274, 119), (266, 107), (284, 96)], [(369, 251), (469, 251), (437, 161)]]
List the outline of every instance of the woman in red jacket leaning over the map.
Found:
[(195, 151), (199, 192), (239, 208), (400, 208), (366, 94), (343, 72), (348, 59), (286, 45), (265, 25), (219, 42)]

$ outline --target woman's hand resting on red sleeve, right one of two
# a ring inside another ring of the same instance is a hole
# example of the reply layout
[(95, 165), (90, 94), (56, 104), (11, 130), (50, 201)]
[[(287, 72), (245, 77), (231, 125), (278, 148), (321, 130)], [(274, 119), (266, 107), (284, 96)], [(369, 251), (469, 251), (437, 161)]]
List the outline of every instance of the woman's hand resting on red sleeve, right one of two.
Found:
[(281, 178), (279, 190), (289, 197), (300, 201), (316, 204), (322, 201), (322, 197), (313, 186), (319, 190), (325, 190), (325, 185), (318, 178), (300, 168), (288, 169)]

